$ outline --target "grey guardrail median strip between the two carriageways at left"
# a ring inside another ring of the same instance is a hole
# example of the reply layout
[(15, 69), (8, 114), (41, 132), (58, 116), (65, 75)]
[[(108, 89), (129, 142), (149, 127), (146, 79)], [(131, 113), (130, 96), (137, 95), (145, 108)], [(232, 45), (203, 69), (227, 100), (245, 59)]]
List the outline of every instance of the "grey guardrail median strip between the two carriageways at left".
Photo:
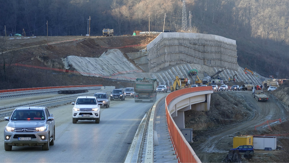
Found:
[[(110, 94), (110, 92), (112, 90), (113, 89), (107, 89), (107, 90), (99, 90), (98, 89), (97, 92), (107, 92)], [(53, 98), (45, 98), (45, 99), (41, 99), (41, 100), (22, 102), (19, 104), (1, 106), (0, 107), (0, 121), (4, 120), (4, 117), (10, 116), (16, 107), (21, 107), (21, 106), (54, 107), (54, 106), (65, 105), (67, 103), (74, 102), (74, 100), (78, 96), (93, 96), (93, 95), (91, 92), (86, 92), (86, 93), (81, 93), (81, 94), (58, 96), (58, 97), (53, 97)]]

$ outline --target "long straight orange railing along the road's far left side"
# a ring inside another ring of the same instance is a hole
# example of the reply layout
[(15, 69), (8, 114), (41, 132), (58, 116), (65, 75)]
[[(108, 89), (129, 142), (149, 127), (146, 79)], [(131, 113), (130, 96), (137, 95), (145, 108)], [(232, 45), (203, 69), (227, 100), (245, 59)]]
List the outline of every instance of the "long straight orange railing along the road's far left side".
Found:
[(58, 88), (76, 88), (76, 87), (101, 87), (102, 85), (70, 85), (70, 86), (57, 86), (57, 87), (36, 87), (36, 88), (20, 88), (20, 89), (4, 89), (0, 93), (17, 92), (17, 91), (37, 91), (42, 89), (58, 89)]

